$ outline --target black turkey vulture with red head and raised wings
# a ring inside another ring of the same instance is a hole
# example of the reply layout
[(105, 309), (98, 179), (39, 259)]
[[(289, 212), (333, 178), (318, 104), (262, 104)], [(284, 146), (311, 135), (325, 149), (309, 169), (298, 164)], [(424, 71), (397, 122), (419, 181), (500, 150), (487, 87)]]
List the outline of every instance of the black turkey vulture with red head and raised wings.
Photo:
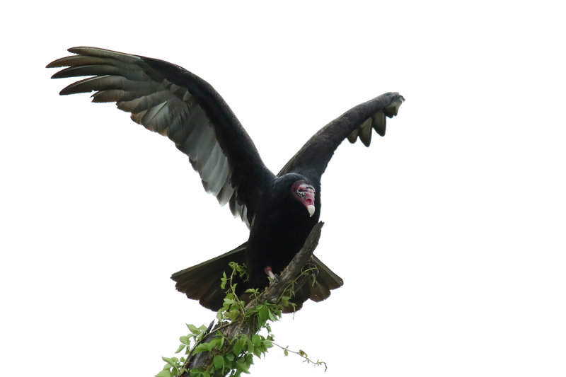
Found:
[[(74, 47), (69, 57), (47, 68), (67, 67), (52, 76), (91, 76), (59, 94), (94, 91), (93, 102), (115, 102), (132, 120), (171, 139), (189, 156), (204, 190), (221, 205), (226, 203), (250, 229), (246, 243), (228, 253), (176, 272), (178, 291), (201, 305), (218, 310), (224, 292), (219, 279), (229, 273), (230, 261), (244, 263), (248, 281), (238, 284), (261, 288), (286, 267), (301, 249), (320, 214), (320, 177), (342, 140), (365, 146), (371, 129), (383, 136), (386, 117), (397, 115), (403, 103), (399, 93), (385, 93), (357, 105), (314, 134), (277, 175), (262, 162), (258, 150), (221, 96), (206, 81), (180, 66), (138, 55), (96, 47)], [(318, 277), (308, 291), (295, 298), (297, 308), (306, 299), (321, 301), (342, 279), (313, 255)]]

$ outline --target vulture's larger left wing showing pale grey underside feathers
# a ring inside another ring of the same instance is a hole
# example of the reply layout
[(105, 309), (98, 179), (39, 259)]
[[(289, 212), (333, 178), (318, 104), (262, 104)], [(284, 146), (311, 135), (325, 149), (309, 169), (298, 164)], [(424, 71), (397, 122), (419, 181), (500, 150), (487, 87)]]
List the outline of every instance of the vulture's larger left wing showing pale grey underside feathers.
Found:
[(273, 179), (253, 141), (221, 96), (189, 71), (158, 59), (96, 47), (51, 62), (53, 79), (91, 76), (59, 94), (94, 91), (93, 102), (115, 102), (132, 120), (171, 139), (200, 174), (204, 190), (250, 226), (255, 198)]

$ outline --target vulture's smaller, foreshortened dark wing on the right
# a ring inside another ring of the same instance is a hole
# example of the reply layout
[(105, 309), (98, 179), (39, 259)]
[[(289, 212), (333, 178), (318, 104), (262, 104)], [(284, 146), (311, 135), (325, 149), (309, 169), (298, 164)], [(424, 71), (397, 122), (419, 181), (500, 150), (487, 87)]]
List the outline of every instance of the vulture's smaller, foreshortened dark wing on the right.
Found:
[(404, 100), (399, 93), (385, 93), (351, 108), (308, 139), (278, 175), (296, 172), (320, 178), (344, 139), (355, 143), (359, 138), (369, 146), (372, 128), (379, 135), (385, 135), (386, 117), (397, 115)]

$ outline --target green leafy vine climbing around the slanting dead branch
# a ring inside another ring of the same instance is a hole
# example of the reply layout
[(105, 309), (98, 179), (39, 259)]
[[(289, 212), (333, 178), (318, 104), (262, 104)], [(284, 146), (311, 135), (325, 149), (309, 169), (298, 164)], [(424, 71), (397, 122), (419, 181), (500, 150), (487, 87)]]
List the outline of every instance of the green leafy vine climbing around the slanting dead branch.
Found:
[[(246, 306), (246, 302), (236, 295), (237, 283), (234, 283), (234, 277), (246, 279), (246, 269), (237, 263), (231, 263), (232, 272), (229, 277), (224, 274), (221, 278), (221, 288), (226, 291), (224, 304), (216, 313), (216, 325), (214, 322), (209, 327), (204, 325), (197, 327), (188, 325), (189, 333), (179, 338), (180, 345), (175, 354), (184, 352), (184, 356), (180, 357), (162, 357), (166, 362), (163, 370), (156, 374), (156, 377), (220, 377), (235, 376), (241, 373), (249, 373), (250, 366), (253, 364), (254, 356), (265, 356), (267, 350), (274, 345), (283, 349), (284, 355), (289, 352), (301, 356), (308, 364), (315, 366), (323, 365), (326, 370), (324, 361), (313, 361), (303, 350), (291, 351), (288, 347), (282, 347), (274, 342), (274, 335), (271, 330), (270, 322), (276, 322), (281, 318), (284, 308), (294, 308), (291, 302), (291, 295), (294, 291), (294, 284), (308, 275), (314, 276), (312, 268), (304, 268), (301, 275), (291, 281), (279, 296), (276, 303), (267, 301), (255, 303), (255, 305)], [(258, 289), (248, 289), (245, 291), (249, 296), (250, 302), (257, 301), (260, 295)], [(236, 337), (229, 338), (221, 331), (225, 327), (235, 323), (248, 323), (252, 326), (253, 335), (245, 333)], [(214, 325), (214, 327), (213, 327)], [(187, 361), (190, 357), (201, 352), (208, 352), (212, 356), (212, 363), (204, 368), (187, 369)]]

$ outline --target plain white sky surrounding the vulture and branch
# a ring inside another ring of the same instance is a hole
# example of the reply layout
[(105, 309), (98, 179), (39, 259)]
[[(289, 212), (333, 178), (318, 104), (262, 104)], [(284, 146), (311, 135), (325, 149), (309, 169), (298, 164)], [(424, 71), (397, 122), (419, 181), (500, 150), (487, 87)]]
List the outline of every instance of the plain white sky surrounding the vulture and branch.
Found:
[(247, 238), (170, 141), (57, 95), (45, 65), (91, 45), (209, 81), (274, 171), (352, 106), (406, 98), (323, 177), (316, 254), (345, 285), (273, 326), (328, 371), (273, 349), (253, 376), (564, 376), (563, 11), (234, 3), (4, 8), (0, 375), (153, 376), (214, 318), (171, 273)]

